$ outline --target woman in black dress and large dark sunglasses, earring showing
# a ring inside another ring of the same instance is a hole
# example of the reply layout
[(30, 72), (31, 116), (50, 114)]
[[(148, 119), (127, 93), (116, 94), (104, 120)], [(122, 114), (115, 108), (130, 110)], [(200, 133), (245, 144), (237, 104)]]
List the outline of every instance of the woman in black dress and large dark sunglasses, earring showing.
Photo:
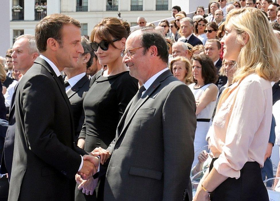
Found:
[[(90, 89), (83, 100), (85, 121), (79, 136), (78, 146), (86, 152), (95, 148), (106, 149), (115, 138), (118, 121), (125, 108), (138, 90), (137, 80), (129, 75), (123, 64), (123, 51), (127, 30), (117, 18), (104, 18), (92, 30), (90, 40), (98, 61), (107, 65), (107, 70), (98, 71), (90, 82)], [(103, 164), (105, 161), (101, 161)], [(81, 190), (75, 191), (76, 200), (103, 200), (105, 175), (99, 178), (94, 189), (86, 188), (95, 181), (91, 178), (82, 181), (76, 176), (77, 186), (84, 183)]]

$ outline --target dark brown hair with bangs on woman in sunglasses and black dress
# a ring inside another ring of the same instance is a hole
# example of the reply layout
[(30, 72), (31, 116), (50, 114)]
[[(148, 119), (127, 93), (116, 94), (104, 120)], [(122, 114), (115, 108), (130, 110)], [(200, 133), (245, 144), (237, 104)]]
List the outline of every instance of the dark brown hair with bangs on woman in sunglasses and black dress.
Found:
[(114, 46), (113, 40), (116, 38), (127, 38), (127, 36), (127, 30), (118, 18), (104, 18), (93, 28), (90, 35), (90, 41), (93, 42), (94, 37), (98, 37), (100, 40), (105, 40), (109, 42), (114, 48), (116, 48), (116, 46)]

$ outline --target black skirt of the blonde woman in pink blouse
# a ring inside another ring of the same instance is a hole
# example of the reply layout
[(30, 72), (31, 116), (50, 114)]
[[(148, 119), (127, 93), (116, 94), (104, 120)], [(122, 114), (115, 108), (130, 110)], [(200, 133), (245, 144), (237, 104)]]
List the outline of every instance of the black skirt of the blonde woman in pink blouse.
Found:
[[(216, 159), (212, 159), (209, 171), (213, 168)], [(226, 179), (210, 194), (210, 199), (211, 201), (269, 201), (260, 165), (257, 162), (245, 163), (240, 170), (240, 177)]]

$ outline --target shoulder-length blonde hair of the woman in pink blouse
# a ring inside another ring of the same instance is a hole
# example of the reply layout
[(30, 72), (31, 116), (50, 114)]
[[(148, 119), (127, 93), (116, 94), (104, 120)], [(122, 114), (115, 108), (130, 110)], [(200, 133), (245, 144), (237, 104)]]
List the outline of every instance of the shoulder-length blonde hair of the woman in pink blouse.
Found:
[(228, 13), (225, 24), (231, 23), (237, 33), (237, 42), (242, 44), (242, 34), (249, 35), (248, 42), (242, 44), (236, 61), (233, 82), (249, 74), (256, 73), (268, 81), (278, 81), (280, 77), (280, 44), (266, 16), (259, 9), (234, 9)]

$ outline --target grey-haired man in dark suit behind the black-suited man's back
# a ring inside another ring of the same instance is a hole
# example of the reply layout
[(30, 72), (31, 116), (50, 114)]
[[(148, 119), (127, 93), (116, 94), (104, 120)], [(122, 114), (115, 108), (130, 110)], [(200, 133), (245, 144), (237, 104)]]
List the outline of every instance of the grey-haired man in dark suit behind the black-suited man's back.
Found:
[[(36, 47), (35, 36), (21, 35), (16, 38), (13, 44), (12, 60), (14, 69), (20, 71), (22, 75), (30, 69), (34, 64), (34, 60), (38, 57), (39, 51)], [(15, 90), (17, 89), (17, 85)], [(11, 177), (11, 168), (13, 161), (13, 145), (15, 138), (15, 93), (11, 98), (11, 106), (9, 112), (9, 126), (6, 133), (5, 144), (3, 148), (3, 154), (1, 158), (1, 174), (8, 174), (9, 179)]]

